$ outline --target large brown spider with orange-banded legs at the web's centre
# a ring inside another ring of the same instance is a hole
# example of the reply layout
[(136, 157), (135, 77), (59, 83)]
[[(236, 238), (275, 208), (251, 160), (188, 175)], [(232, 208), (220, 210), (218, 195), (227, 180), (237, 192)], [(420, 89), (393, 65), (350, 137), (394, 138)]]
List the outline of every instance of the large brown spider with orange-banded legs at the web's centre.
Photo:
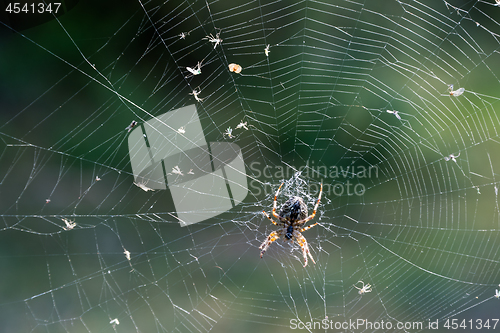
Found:
[(312, 262), (316, 264), (314, 261), (314, 258), (311, 255), (311, 252), (309, 252), (309, 246), (307, 245), (307, 241), (304, 236), (302, 236), (302, 232), (311, 229), (315, 225), (318, 224), (318, 222), (311, 224), (310, 226), (304, 227), (304, 224), (314, 218), (316, 215), (316, 210), (318, 209), (319, 202), (321, 200), (321, 193), (323, 192), (323, 184), (321, 184), (321, 188), (319, 190), (319, 196), (318, 196), (318, 201), (316, 201), (316, 205), (314, 206), (313, 213), (309, 216), (307, 212), (307, 205), (305, 204), (304, 200), (301, 197), (291, 197), (288, 199), (282, 206), (279, 215), (276, 214), (276, 198), (278, 197), (278, 194), (281, 190), (281, 186), (283, 186), (283, 183), (281, 183), (280, 187), (276, 191), (276, 194), (274, 195), (274, 202), (273, 202), (273, 210), (272, 214), (273, 216), (279, 220), (279, 222), (275, 222), (265, 211), (262, 211), (264, 215), (273, 222), (273, 224), (280, 226), (281, 229), (275, 230), (267, 236), (267, 239), (262, 243), (262, 245), (259, 247), (262, 251), (260, 251), (260, 257), (264, 255), (264, 253), (267, 251), (269, 246), (278, 238), (283, 238), (283, 240), (286, 242), (287, 240), (290, 240), (290, 242), (293, 243), (294, 240), (297, 241), (297, 243), (300, 245), (302, 248), (302, 255), (304, 256), (304, 267), (307, 266), (307, 256), (311, 258)]

